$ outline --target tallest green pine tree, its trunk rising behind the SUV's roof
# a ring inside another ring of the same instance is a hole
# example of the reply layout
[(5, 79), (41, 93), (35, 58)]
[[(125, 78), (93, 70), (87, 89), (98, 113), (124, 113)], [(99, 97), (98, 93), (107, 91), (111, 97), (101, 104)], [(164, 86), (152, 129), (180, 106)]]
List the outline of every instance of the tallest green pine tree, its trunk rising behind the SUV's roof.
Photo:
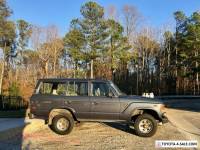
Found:
[[(94, 77), (94, 63), (105, 50), (107, 38), (104, 9), (96, 2), (87, 2), (81, 7), (82, 19), (77, 19), (74, 26), (78, 27), (85, 38), (85, 59), (90, 62), (90, 77)], [(96, 68), (94, 68), (96, 69)]]

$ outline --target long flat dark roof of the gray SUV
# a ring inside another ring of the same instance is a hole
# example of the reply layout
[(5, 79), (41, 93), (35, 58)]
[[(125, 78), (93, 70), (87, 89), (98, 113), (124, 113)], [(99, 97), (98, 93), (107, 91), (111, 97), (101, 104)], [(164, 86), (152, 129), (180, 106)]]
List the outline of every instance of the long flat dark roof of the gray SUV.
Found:
[(79, 79), (79, 78), (43, 78), (38, 79), (43, 82), (67, 82), (67, 81), (97, 81), (97, 82), (108, 82), (109, 80), (104, 79)]

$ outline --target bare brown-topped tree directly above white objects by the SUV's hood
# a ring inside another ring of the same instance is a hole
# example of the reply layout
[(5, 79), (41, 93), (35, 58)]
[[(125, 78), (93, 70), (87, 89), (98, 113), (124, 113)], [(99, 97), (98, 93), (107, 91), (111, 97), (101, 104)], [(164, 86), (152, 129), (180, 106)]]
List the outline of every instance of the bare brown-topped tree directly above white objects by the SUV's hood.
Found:
[(159, 43), (154, 37), (155, 30), (150, 27), (142, 29), (136, 39), (135, 48), (137, 49), (137, 63), (139, 67), (139, 80), (142, 90), (150, 89), (150, 75), (153, 72), (155, 58), (158, 54)]

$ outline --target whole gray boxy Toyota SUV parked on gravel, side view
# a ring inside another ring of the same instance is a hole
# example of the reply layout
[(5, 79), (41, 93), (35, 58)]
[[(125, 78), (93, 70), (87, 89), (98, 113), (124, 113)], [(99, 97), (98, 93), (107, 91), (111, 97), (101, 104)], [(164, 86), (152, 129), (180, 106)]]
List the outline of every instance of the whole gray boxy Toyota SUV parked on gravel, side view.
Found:
[(57, 134), (75, 122), (124, 122), (139, 136), (153, 136), (168, 121), (160, 100), (127, 96), (107, 80), (40, 79), (30, 99), (30, 118), (42, 118)]

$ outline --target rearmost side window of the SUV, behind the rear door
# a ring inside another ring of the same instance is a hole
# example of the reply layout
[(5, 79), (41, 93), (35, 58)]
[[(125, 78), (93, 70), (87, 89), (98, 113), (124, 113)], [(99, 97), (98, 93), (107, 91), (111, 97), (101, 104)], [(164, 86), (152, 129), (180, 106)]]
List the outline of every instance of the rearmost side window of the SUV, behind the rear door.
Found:
[(40, 86), (40, 94), (52, 94), (52, 95), (66, 95), (65, 83), (42, 83)]

